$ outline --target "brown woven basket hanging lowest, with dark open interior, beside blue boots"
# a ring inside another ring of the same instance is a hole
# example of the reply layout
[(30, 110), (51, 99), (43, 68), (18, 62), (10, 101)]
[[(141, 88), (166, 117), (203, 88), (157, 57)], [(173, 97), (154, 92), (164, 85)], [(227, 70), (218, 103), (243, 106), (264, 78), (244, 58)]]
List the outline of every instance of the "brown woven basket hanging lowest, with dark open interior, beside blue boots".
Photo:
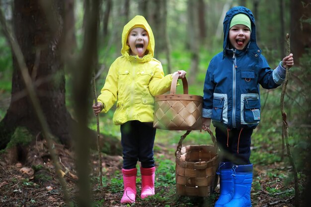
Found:
[(218, 150), (216, 139), (209, 131), (213, 145), (188, 145), (181, 147), (181, 136), (176, 149), (176, 194), (180, 196), (209, 197), (218, 184)]

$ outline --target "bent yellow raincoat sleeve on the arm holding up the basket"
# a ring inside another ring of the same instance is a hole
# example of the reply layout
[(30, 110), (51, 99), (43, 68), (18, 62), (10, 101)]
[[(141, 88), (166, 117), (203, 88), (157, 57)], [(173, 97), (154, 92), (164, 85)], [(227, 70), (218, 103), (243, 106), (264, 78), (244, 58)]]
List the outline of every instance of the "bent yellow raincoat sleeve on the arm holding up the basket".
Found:
[(155, 74), (149, 83), (149, 91), (151, 95), (156, 96), (169, 91), (172, 79), (172, 74), (164, 76), (162, 65), (157, 64)]

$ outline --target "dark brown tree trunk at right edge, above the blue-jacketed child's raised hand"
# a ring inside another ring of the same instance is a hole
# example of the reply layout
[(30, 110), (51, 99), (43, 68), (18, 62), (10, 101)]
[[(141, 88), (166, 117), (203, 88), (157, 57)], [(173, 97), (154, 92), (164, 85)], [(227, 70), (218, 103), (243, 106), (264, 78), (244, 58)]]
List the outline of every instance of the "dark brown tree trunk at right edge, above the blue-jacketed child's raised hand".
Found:
[(295, 64), (299, 65), (299, 58), (311, 48), (311, 24), (307, 21), (310, 19), (311, 0), (291, 0), (290, 13), (291, 50), (295, 55)]

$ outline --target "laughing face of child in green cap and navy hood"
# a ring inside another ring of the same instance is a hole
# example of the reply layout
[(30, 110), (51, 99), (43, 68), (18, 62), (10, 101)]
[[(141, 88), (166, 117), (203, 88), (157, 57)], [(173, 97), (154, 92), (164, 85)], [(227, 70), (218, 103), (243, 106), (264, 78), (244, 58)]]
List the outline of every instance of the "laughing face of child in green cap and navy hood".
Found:
[(243, 24), (237, 24), (229, 30), (229, 40), (233, 48), (243, 50), (250, 40), (250, 30)]

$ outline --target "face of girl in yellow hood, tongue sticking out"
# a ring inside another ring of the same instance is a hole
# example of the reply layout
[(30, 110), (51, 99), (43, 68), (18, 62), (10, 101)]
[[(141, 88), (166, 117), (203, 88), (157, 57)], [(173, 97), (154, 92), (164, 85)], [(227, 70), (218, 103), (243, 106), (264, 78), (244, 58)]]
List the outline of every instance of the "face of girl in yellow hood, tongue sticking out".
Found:
[(133, 28), (127, 37), (127, 45), (130, 46), (130, 55), (144, 57), (149, 44), (148, 32), (141, 27)]

